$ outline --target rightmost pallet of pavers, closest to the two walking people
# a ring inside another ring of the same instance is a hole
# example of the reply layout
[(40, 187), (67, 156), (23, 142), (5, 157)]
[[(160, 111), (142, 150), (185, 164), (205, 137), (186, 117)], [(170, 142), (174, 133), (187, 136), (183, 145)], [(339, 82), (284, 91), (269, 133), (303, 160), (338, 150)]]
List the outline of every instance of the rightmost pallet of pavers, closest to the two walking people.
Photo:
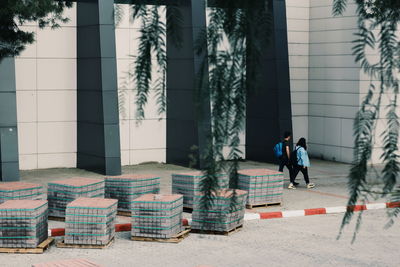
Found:
[(240, 170), (239, 188), (248, 192), (247, 206), (282, 203), (283, 173), (268, 169)]

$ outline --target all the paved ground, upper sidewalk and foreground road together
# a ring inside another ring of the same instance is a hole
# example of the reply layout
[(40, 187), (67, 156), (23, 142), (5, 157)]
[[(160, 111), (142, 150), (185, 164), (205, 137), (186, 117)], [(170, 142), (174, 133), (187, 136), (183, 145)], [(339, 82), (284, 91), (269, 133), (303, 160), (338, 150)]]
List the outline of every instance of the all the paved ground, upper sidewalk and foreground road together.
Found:
[[(258, 208), (247, 212), (296, 210), (343, 206), (347, 202), (346, 177), (349, 165), (313, 160), (310, 170), (313, 190), (302, 184), (297, 190), (284, 190), (282, 206)], [(276, 166), (243, 162), (242, 168)], [(146, 164), (124, 168), (124, 173), (153, 173), (162, 177), (162, 193), (171, 192), (171, 174), (187, 169), (165, 164)], [(65, 177), (101, 177), (76, 169), (26, 171), (22, 180), (46, 184)], [(287, 173), (286, 173), (287, 177)], [(285, 187), (287, 182), (285, 183)], [(384, 200), (376, 200), (382, 202)], [(372, 201), (375, 202), (375, 201)], [(189, 217), (190, 214), (185, 214)], [(57, 249), (43, 255), (0, 255), (0, 266), (30, 266), (31, 263), (83, 257), (104, 266), (400, 266), (400, 222), (384, 230), (385, 211), (365, 212), (363, 225), (354, 245), (350, 244), (352, 228), (337, 241), (343, 215), (320, 215), (249, 221), (245, 228), (230, 237), (191, 234), (180, 244), (143, 243), (129, 240), (129, 233), (118, 233), (118, 239), (106, 250)], [(119, 217), (118, 221), (129, 222)], [(50, 227), (63, 223), (50, 222)]]

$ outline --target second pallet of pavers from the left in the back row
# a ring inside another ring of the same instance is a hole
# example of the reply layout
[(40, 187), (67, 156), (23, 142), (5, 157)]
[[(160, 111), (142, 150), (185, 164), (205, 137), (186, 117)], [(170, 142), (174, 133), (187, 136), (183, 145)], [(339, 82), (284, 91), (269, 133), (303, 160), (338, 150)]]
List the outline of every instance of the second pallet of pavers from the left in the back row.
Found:
[(65, 209), (80, 197), (104, 198), (104, 180), (70, 178), (48, 183), (49, 216), (65, 218)]

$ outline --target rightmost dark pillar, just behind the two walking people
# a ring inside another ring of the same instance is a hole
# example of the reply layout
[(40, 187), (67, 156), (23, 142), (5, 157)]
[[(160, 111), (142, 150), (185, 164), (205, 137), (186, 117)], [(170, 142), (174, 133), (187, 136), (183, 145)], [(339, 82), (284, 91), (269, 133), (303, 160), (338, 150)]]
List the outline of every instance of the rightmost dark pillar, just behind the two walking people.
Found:
[[(284, 131), (292, 131), (289, 56), (285, 0), (270, 0), (272, 28), (261, 55), (248, 53), (248, 86), (246, 111), (246, 158), (273, 162), (273, 146)], [(255, 12), (255, 11), (249, 11)], [(256, 22), (253, 22), (256, 23)], [(250, 23), (248, 42), (252, 39)], [(250, 47), (250, 46), (249, 46)], [(255, 57), (259, 59), (255, 64)], [(255, 74), (255, 75), (253, 75)], [(253, 77), (257, 79), (252, 80)]]

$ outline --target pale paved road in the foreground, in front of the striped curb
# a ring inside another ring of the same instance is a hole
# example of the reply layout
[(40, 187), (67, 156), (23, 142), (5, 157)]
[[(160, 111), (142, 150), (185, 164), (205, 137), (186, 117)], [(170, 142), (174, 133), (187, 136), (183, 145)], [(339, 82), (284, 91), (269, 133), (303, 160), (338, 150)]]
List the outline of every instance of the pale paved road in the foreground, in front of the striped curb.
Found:
[(351, 228), (336, 240), (341, 218), (250, 221), (229, 237), (191, 234), (179, 244), (133, 242), (129, 233), (119, 233), (117, 242), (105, 250), (52, 247), (42, 255), (0, 255), (0, 266), (77, 257), (107, 267), (400, 266), (400, 223), (384, 230), (384, 211), (366, 212), (361, 232), (351, 245)]

